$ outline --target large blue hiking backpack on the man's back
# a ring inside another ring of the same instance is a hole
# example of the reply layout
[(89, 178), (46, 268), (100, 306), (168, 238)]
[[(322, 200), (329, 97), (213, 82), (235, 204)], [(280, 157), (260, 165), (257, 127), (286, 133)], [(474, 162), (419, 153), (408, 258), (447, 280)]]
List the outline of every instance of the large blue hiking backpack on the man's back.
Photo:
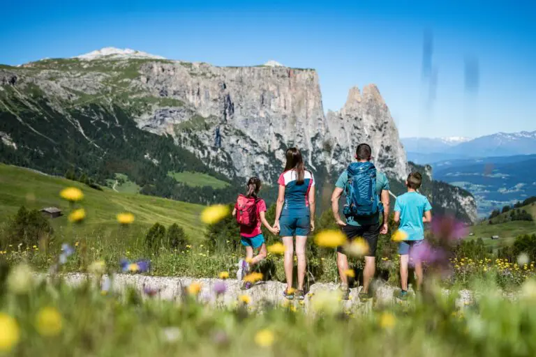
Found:
[(376, 168), (372, 162), (352, 162), (348, 166), (346, 184), (346, 206), (343, 213), (348, 216), (371, 216), (380, 211), (376, 193)]

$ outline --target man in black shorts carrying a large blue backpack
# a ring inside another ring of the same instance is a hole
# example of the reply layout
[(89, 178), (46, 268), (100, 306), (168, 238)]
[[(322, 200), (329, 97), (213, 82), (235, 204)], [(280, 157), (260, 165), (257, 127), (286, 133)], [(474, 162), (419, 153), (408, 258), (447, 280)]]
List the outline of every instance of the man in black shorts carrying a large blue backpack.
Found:
[[(371, 146), (368, 146), (368, 144), (359, 144), (357, 146), (355, 152), (357, 162), (352, 163), (338, 177), (332, 195), (333, 215), (337, 224), (348, 237), (348, 243), (355, 238), (362, 237), (368, 244), (363, 271), (363, 289), (359, 293), (361, 301), (371, 298), (368, 288), (375, 273), (375, 253), (378, 246), (378, 236), (379, 234), (387, 234), (387, 222), (389, 222), (389, 181), (387, 181), (385, 174), (375, 171), (374, 165), (370, 162), (372, 158), (371, 152)], [(366, 188), (370, 187), (374, 182), (375, 188), (372, 192), (367, 192), (369, 190), (366, 190)], [(341, 220), (338, 213), (338, 201), (343, 192), (346, 193), (347, 199), (347, 206), (345, 206), (346, 222)], [(367, 195), (370, 195), (370, 197), (367, 198)], [(379, 204), (378, 198), (380, 198), (381, 204)], [(368, 206), (366, 206), (366, 202), (368, 202)], [(383, 215), (381, 225), (380, 211)], [(346, 276), (348, 257), (346, 257), (342, 247), (337, 248), (337, 267), (338, 274), (341, 277), (343, 299), (348, 300), (350, 295), (348, 277)]]

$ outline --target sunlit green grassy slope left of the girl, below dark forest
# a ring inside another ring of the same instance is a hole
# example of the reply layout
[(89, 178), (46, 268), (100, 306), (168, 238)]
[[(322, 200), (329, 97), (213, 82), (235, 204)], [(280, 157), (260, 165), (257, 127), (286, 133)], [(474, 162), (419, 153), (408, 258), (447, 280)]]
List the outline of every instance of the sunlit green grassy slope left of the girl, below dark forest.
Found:
[(110, 229), (117, 229), (117, 213), (124, 211), (135, 215), (135, 229), (147, 229), (155, 222), (163, 225), (177, 225), (184, 228), (186, 234), (198, 233), (201, 225), (198, 219), (203, 206), (187, 204), (170, 199), (145, 195), (114, 192), (110, 188), (98, 191), (77, 183), (54, 176), (46, 176), (29, 169), (0, 164), (0, 222), (6, 222), (17, 212), (20, 206), (40, 209), (55, 206), (64, 211), (64, 216), (52, 220), (57, 234), (68, 234), (73, 229), (67, 220), (70, 207), (68, 202), (59, 197), (59, 192), (68, 186), (80, 188), (84, 200), (80, 206), (87, 211), (87, 220), (77, 231), (101, 232), (110, 234)]

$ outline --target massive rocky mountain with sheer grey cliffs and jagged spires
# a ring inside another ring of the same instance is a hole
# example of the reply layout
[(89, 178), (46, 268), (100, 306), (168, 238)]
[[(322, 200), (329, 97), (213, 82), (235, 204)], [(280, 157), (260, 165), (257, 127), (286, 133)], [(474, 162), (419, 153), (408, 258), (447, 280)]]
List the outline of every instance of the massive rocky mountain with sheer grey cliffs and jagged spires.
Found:
[(204, 172), (237, 189), (258, 175), (269, 185), (290, 146), (322, 184), (364, 141), (393, 181), (408, 172), (376, 86), (351, 89), (344, 107), (325, 116), (315, 70), (275, 61), (217, 67), (105, 48), (0, 66), (0, 134), (3, 162), (52, 174), (75, 169), (99, 182), (126, 174), (143, 193), (191, 202), (236, 191), (191, 188), (170, 173)]

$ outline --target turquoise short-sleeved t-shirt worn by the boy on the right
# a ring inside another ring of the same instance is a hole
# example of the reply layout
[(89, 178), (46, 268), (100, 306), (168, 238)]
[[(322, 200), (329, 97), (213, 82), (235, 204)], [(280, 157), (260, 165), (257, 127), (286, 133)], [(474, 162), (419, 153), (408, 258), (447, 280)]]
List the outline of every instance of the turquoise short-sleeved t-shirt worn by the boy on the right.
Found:
[(424, 239), (424, 212), (430, 211), (432, 206), (426, 198), (418, 192), (405, 192), (396, 197), (394, 211), (400, 212), (399, 229), (408, 234), (406, 241), (421, 241)]

